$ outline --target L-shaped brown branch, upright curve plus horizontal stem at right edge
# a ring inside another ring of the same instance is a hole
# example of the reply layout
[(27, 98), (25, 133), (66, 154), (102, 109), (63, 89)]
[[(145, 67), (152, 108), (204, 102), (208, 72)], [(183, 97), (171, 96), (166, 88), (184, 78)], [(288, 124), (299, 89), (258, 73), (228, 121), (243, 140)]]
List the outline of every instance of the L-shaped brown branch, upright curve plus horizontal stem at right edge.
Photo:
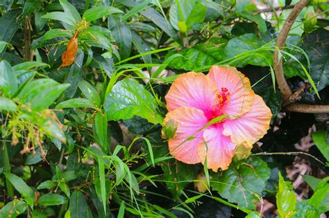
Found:
[(307, 5), (308, 0), (301, 0), (295, 6), (292, 12), (290, 12), (289, 17), (283, 24), (282, 29), (276, 39), (276, 51), (274, 52), (273, 64), (274, 71), (276, 73), (276, 82), (278, 82), (278, 87), (282, 93), (283, 105), (287, 106), (285, 109), (287, 111), (296, 111), (301, 113), (329, 113), (329, 105), (291, 105), (294, 101), (298, 100), (303, 94), (304, 90), (298, 89), (296, 93), (292, 93), (292, 90), (289, 88), (287, 81), (285, 80), (285, 73), (283, 72), (283, 64), (281, 50), (285, 46), (288, 34), (296, 17), (299, 15), (301, 10)]

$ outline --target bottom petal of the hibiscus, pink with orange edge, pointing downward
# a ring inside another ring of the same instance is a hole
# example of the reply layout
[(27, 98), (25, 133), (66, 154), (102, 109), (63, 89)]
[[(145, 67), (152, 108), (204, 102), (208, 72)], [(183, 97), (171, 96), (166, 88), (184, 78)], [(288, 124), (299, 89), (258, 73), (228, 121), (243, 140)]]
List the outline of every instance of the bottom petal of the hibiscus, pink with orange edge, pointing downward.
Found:
[(203, 132), (202, 141), (199, 143), (198, 152), (201, 163), (205, 162), (207, 157), (207, 167), (217, 172), (219, 168), (226, 170), (232, 162), (236, 145), (230, 140), (230, 137), (223, 135), (223, 127), (217, 125), (210, 127)]

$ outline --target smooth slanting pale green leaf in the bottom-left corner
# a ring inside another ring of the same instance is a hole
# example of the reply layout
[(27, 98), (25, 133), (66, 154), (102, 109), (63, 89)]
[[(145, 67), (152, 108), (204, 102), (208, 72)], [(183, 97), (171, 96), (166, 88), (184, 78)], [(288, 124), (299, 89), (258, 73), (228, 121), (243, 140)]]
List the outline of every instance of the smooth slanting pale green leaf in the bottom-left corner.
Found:
[(12, 183), (12, 185), (15, 187), (15, 189), (22, 194), (22, 197), (26, 200), (29, 206), (33, 206), (33, 202), (35, 199), (34, 192), (32, 188), (30, 188), (23, 179), (19, 178), (15, 174), (11, 174), (9, 172), (3, 172), (3, 174), (6, 176), (6, 179)]

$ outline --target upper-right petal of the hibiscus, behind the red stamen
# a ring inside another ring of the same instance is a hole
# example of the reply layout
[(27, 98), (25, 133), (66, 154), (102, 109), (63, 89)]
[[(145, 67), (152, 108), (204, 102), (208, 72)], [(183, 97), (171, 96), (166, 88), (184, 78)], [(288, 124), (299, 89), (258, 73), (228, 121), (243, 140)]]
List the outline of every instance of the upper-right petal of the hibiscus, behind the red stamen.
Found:
[(224, 114), (240, 116), (251, 110), (255, 96), (249, 79), (234, 67), (212, 66), (208, 75), (217, 89), (228, 89), (230, 99), (223, 110)]

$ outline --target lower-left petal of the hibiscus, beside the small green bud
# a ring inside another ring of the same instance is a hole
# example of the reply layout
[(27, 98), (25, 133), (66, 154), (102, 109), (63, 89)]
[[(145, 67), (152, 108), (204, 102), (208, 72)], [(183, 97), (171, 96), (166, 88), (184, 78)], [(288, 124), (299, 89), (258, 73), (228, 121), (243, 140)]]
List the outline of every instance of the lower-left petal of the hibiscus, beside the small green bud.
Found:
[[(168, 140), (170, 154), (184, 163), (200, 163), (197, 147), (202, 141), (203, 131), (196, 131), (208, 122), (203, 111), (192, 107), (179, 107), (167, 113), (163, 125), (165, 126), (169, 120), (174, 120), (178, 124), (174, 138)], [(190, 136), (198, 138), (187, 140)]]

